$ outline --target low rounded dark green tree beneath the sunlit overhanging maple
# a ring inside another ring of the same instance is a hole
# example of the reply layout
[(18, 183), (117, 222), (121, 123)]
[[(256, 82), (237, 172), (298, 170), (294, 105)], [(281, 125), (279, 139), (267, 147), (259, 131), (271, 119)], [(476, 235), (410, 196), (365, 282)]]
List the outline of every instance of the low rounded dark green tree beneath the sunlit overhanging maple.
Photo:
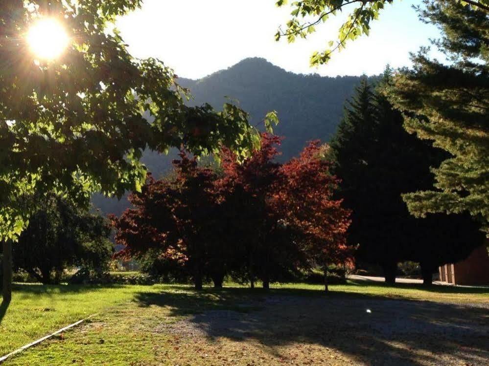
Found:
[(30, 204), (29, 224), (13, 246), (14, 269), (45, 284), (59, 283), (73, 266), (97, 274), (108, 269), (113, 245), (106, 219), (53, 194), (34, 196)]

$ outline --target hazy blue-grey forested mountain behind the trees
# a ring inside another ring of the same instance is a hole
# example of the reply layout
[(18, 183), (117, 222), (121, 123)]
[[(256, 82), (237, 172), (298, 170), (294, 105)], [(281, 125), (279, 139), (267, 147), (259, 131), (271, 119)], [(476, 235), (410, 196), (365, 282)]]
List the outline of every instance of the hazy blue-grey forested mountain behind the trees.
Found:
[[(284, 136), (281, 160), (297, 155), (310, 140), (327, 142), (342, 115), (345, 100), (359, 83), (359, 76), (321, 77), (287, 72), (262, 58), (248, 58), (226, 70), (199, 80), (179, 78), (194, 99), (190, 105), (209, 103), (220, 109), (227, 101), (239, 105), (251, 116), (253, 125), (260, 124), (265, 114), (277, 110), (280, 123), (274, 132)], [(157, 177), (171, 169), (175, 151), (159, 155), (148, 151), (143, 162)], [(105, 214), (119, 215), (128, 207), (121, 201), (93, 197), (95, 207)]]

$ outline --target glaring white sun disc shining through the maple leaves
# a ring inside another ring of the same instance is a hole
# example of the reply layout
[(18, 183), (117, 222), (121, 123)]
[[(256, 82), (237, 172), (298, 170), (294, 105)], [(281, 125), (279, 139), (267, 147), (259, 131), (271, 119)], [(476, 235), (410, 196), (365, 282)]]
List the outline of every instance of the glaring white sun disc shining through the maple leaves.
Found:
[(43, 18), (32, 24), (26, 39), (32, 53), (42, 60), (58, 58), (70, 42), (63, 25), (53, 18)]

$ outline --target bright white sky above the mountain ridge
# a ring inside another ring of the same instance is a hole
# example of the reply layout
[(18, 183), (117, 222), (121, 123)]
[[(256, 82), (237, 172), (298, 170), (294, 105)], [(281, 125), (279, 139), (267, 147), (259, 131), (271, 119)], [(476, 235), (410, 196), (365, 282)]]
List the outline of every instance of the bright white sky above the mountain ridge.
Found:
[(370, 37), (349, 43), (328, 65), (309, 67), (309, 56), (335, 40), (339, 19), (317, 27), (307, 40), (275, 42), (290, 9), (275, 0), (144, 0), (141, 9), (119, 19), (117, 27), (135, 57), (157, 57), (182, 77), (198, 79), (247, 57), (263, 57), (295, 73), (323, 76), (380, 73), (387, 63), (410, 65), (409, 52), (437, 38), (433, 25), (419, 22), (411, 5), (396, 0), (372, 23)]

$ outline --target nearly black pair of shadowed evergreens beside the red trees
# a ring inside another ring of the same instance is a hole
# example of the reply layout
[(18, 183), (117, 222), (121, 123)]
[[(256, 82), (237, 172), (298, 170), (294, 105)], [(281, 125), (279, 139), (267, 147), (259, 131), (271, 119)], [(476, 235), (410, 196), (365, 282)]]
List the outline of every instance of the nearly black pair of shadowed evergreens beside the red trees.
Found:
[(401, 194), (429, 187), (430, 167), (446, 154), (403, 129), (401, 112), (383, 93), (391, 81), (388, 67), (374, 91), (366, 81), (358, 87), (331, 142), (334, 173), (353, 211), (349, 240), (360, 244), (357, 258), (381, 265), (387, 282), (395, 281), (398, 261), (418, 261), (431, 283), (437, 266), (466, 257), (482, 237), (466, 216), (409, 214)]

